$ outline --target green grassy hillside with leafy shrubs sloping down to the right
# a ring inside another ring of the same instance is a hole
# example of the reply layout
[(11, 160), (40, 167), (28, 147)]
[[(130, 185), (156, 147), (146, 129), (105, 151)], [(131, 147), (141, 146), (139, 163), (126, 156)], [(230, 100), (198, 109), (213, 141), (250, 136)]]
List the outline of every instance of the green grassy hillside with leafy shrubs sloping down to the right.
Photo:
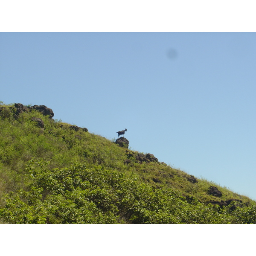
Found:
[(18, 112), (0, 105), (2, 224), (256, 223), (250, 198), (35, 109)]

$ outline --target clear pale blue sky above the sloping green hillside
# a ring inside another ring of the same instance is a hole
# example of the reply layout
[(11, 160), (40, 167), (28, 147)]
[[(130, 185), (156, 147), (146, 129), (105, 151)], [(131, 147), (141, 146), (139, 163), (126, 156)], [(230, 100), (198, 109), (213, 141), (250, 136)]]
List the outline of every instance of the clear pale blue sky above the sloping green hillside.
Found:
[(256, 200), (256, 33), (0, 33), (0, 101)]

